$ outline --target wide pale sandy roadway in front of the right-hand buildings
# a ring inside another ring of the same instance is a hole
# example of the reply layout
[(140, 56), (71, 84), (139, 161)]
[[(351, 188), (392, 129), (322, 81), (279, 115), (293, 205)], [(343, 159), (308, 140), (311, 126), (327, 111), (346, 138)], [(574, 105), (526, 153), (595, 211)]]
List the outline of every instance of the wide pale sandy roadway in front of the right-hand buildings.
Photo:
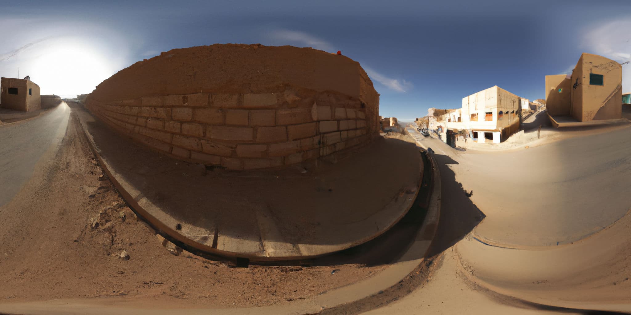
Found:
[(631, 207), (631, 127), (519, 151), (463, 152), (430, 137), (421, 143), (449, 165), (441, 176), (451, 170), (463, 190), (473, 190), (471, 202), (486, 215), (474, 232), (484, 241), (516, 248), (571, 243)]

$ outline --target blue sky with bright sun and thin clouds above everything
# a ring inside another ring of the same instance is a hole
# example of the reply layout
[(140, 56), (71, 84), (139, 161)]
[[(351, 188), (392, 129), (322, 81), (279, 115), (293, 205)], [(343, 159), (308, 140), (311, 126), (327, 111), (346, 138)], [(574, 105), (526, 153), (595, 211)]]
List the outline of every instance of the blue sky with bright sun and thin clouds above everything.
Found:
[(0, 76), (20, 67), (62, 96), (174, 48), (295, 45), (357, 60), (380, 114), (413, 120), (494, 85), (545, 98), (545, 75), (571, 71), (582, 52), (631, 59), (628, 0), (50, 2), (0, 4)]

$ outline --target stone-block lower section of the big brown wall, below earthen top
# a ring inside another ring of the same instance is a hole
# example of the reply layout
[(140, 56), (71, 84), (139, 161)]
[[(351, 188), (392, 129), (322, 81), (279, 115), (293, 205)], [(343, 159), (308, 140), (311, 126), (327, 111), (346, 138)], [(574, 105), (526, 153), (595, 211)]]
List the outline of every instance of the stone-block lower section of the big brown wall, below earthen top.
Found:
[(308, 101), (287, 93), (196, 93), (90, 100), (88, 108), (146, 146), (228, 169), (300, 163), (370, 138), (365, 104), (333, 93)]

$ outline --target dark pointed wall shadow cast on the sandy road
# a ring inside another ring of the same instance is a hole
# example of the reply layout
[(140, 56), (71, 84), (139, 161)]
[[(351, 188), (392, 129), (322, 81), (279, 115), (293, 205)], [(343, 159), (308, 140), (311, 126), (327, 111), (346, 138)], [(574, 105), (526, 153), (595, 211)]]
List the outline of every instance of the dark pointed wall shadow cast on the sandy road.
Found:
[(473, 192), (456, 181), (456, 174), (448, 164), (458, 164), (451, 157), (433, 154), (439, 164), (441, 180), (440, 221), (436, 236), (426, 256), (431, 257), (456, 244), (486, 217), (471, 202)]

